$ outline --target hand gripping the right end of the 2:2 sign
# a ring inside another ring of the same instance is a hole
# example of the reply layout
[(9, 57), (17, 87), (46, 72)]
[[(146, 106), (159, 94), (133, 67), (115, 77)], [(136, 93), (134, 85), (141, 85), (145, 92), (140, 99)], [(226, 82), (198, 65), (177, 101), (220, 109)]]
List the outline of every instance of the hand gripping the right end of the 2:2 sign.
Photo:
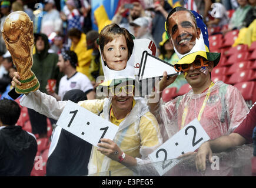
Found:
[(204, 172), (206, 170), (206, 157), (207, 156), (208, 156), (210, 163), (212, 163), (212, 160), (211, 160), (212, 150), (210, 147), (210, 143), (204, 142), (199, 147), (197, 156), (195, 156), (195, 167), (197, 167), (197, 172), (199, 172), (199, 171)]

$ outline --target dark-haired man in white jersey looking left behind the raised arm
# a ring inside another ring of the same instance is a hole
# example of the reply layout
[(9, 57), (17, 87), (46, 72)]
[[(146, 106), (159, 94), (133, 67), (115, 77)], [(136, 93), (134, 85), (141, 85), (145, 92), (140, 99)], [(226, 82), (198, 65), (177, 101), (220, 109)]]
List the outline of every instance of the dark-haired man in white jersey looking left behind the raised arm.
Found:
[(59, 72), (63, 72), (63, 76), (59, 82), (58, 94), (46, 86), (47, 93), (54, 96), (57, 100), (62, 100), (65, 93), (71, 89), (81, 89), (85, 92), (88, 99), (95, 99), (95, 91), (90, 80), (81, 72), (77, 72), (77, 54), (73, 51), (62, 51), (59, 54), (57, 66)]

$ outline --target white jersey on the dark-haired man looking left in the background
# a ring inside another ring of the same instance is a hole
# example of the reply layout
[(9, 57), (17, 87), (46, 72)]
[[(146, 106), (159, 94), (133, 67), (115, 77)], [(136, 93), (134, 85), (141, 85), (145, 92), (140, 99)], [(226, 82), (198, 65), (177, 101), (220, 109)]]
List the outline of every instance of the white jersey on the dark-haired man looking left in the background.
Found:
[(61, 100), (65, 93), (71, 89), (81, 89), (83, 92), (86, 92), (89, 89), (94, 89), (94, 86), (92, 86), (91, 81), (87, 76), (81, 72), (76, 72), (71, 78), (68, 78), (67, 75), (61, 78), (58, 91)]

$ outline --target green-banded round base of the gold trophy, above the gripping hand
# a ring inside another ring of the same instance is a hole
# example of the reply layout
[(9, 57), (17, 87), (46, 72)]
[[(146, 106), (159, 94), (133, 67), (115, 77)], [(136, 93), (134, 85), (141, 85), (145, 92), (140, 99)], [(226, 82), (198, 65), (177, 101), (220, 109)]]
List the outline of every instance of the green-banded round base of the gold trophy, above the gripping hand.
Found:
[(25, 79), (25, 80), (19, 80), (21, 82), (21, 85), (15, 86), (16, 93), (29, 93), (34, 92), (35, 90), (39, 89), (39, 82), (36, 76), (33, 74), (31, 78)]

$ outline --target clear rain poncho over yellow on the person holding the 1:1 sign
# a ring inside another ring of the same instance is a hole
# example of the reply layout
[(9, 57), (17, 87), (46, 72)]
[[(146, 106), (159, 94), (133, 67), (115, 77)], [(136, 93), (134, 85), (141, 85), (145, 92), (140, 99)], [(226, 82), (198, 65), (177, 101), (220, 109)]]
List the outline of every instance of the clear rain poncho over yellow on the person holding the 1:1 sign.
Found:
[[(31, 108), (47, 117), (58, 119), (67, 101), (59, 101), (52, 96), (36, 90), (21, 98), (21, 105)], [(158, 122), (149, 112), (144, 99), (135, 98), (135, 106), (119, 125), (114, 142), (127, 155), (135, 157), (137, 164), (145, 164), (147, 156), (162, 144), (162, 137), (159, 131)], [(100, 113), (101, 117), (109, 119), (109, 108), (111, 102), (108, 98), (104, 100), (85, 100), (78, 102), (78, 105), (90, 110), (95, 114)], [(61, 154), (60, 154), (61, 155)], [(88, 164), (89, 174), (100, 173), (111, 170), (113, 176), (131, 176), (132, 171), (124, 169), (121, 163), (109, 159), (97, 151), (93, 146), (90, 161)], [(121, 170), (121, 171), (120, 171)]]

